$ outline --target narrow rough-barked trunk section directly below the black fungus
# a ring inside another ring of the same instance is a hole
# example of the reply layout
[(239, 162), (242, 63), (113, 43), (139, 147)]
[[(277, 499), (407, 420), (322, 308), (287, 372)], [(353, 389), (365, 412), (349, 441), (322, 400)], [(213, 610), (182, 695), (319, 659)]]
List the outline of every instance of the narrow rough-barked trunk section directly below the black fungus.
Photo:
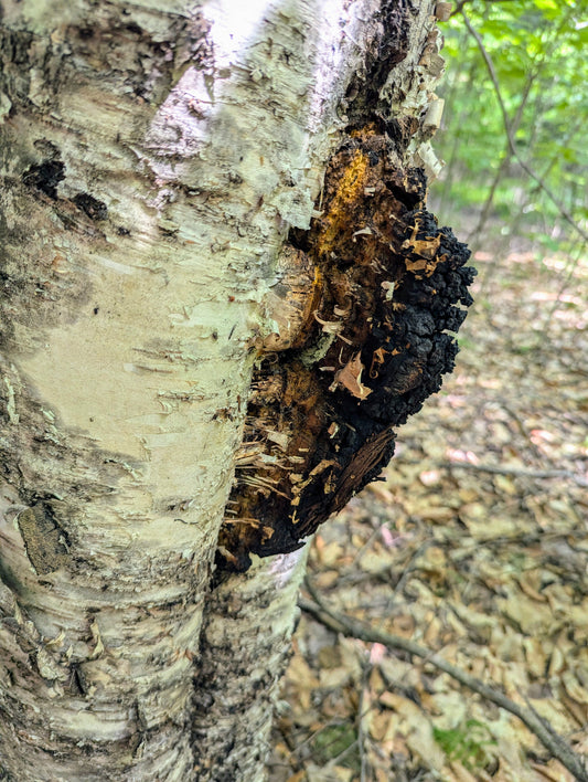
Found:
[(206, 604), (194, 689), (195, 779), (261, 782), (308, 546), (231, 577)]

